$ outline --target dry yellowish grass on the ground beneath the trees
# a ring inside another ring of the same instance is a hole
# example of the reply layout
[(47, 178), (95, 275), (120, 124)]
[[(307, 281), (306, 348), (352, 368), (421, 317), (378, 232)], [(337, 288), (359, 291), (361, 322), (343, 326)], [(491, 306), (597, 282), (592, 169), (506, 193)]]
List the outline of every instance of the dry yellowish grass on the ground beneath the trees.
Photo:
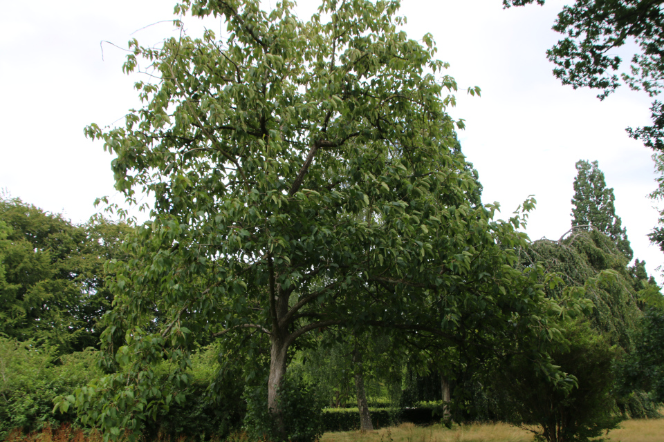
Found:
[[(611, 442), (664, 442), (664, 419), (624, 421), (618, 430), (609, 432)], [(532, 442), (533, 433), (506, 423), (418, 427), (403, 423), (398, 427), (373, 432), (325, 433), (320, 442)]]

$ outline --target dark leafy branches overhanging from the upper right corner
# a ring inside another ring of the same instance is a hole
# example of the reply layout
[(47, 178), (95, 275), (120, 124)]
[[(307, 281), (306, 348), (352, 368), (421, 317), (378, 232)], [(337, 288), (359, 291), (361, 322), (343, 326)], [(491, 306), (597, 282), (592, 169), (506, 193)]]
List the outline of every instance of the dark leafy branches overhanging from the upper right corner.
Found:
[[(535, 0), (503, 0), (506, 8), (524, 6)], [(544, 0), (537, 0), (540, 5)], [(604, 99), (620, 84), (643, 90), (656, 97), (664, 86), (664, 12), (661, 1), (576, 0), (564, 6), (553, 30), (564, 38), (546, 51), (555, 64), (553, 74), (573, 88), (600, 89)], [(614, 50), (634, 41), (638, 52), (631, 57), (629, 70)], [(628, 128), (629, 135), (658, 151), (664, 149), (664, 105), (655, 100), (650, 108), (652, 126)]]

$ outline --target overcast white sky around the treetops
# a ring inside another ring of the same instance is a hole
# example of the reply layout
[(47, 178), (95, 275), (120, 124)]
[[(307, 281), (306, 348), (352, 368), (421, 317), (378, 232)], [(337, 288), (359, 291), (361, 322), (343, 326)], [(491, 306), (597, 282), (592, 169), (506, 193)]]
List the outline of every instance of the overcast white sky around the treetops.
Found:
[[(274, 3), (274, 1), (273, 1)], [(300, 0), (307, 19), (318, 1)], [(649, 99), (623, 88), (604, 102), (591, 90), (562, 86), (546, 49), (566, 3), (503, 10), (501, 0), (403, 0), (409, 37), (431, 32), (438, 57), (460, 86), (454, 117), (466, 120), (463, 151), (479, 171), (484, 202), (498, 201), (506, 218), (530, 194), (537, 210), (528, 234), (557, 239), (571, 223), (574, 164), (598, 160), (614, 188), (616, 212), (635, 256), (650, 272), (664, 255), (647, 233), (657, 212), (651, 151), (630, 140), (627, 126), (649, 123)], [(0, 17), (0, 188), (74, 222), (95, 213), (93, 201), (113, 195), (112, 157), (83, 128), (111, 125), (138, 106), (133, 82), (122, 74), (122, 48), (136, 37), (156, 44), (172, 31), (174, 1), (4, 1)], [(266, 2), (266, 5), (269, 3)], [(187, 22), (194, 30), (199, 24)], [(210, 22), (207, 26), (216, 26)], [(133, 34), (132, 34), (133, 33)], [(621, 55), (627, 55), (629, 52)], [(480, 86), (482, 97), (465, 95)], [(121, 122), (121, 121), (120, 121)]]

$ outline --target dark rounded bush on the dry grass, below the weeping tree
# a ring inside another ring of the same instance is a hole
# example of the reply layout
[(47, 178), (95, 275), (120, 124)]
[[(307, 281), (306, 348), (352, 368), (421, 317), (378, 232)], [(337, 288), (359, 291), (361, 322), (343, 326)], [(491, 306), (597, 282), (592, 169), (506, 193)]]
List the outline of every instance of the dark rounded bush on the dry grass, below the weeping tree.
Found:
[(529, 430), (527, 424), (540, 425), (531, 430), (538, 441), (589, 441), (616, 428), (621, 420), (611, 397), (615, 349), (588, 323), (569, 323), (564, 335), (569, 339), (567, 345), (552, 356), (575, 377), (577, 385), (571, 390), (552, 385), (526, 358), (513, 358), (502, 376), (504, 406), (511, 405), (517, 425), (526, 424)]

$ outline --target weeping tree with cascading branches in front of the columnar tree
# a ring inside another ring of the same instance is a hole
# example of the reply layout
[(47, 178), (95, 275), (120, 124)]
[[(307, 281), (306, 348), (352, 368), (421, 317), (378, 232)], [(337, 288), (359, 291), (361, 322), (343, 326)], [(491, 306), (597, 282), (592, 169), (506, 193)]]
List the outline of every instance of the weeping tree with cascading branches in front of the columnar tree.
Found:
[[(634, 266), (627, 267), (627, 258), (611, 238), (596, 229), (584, 228), (573, 228), (557, 241), (537, 240), (525, 255), (524, 262), (541, 262), (546, 271), (557, 272), (566, 284), (581, 284), (596, 278), (602, 271), (613, 274), (611, 280), (587, 285), (585, 291), (585, 296), (595, 306), (591, 314), (593, 329), (608, 343), (620, 347), (615, 353), (616, 380), (611, 400), (616, 401), (623, 415), (656, 416), (658, 403), (643, 390), (639, 376), (634, 376), (635, 367), (644, 371), (656, 369), (656, 364), (651, 365), (652, 360), (642, 360), (639, 356), (642, 336), (647, 333), (642, 309), (647, 312), (650, 302), (662, 298), (654, 279), (647, 277), (645, 263), (636, 260)], [(554, 297), (559, 292), (549, 290)]]

